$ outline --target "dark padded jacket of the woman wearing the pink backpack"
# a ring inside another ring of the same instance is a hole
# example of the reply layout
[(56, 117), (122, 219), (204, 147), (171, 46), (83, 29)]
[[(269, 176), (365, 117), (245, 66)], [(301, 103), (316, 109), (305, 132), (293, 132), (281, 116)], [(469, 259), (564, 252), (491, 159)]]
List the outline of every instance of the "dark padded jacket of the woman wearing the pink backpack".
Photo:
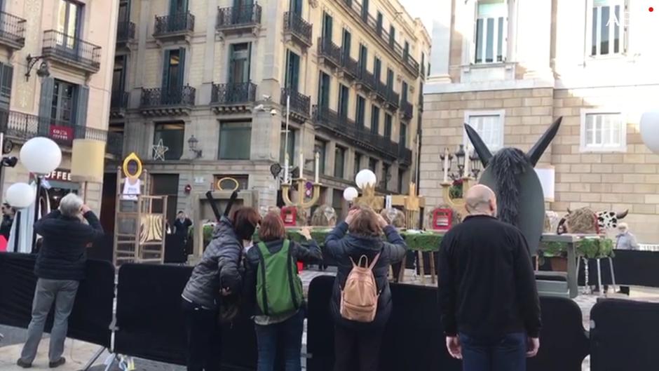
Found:
[[(341, 222), (325, 239), (325, 250), (323, 251), (326, 255), (336, 260), (339, 267), (337, 278), (334, 280), (332, 302), (330, 303), (330, 311), (332, 311), (334, 323), (353, 330), (381, 330), (389, 321), (392, 309), (391, 291), (387, 279), (389, 267), (391, 264), (402, 261), (407, 251), (407, 245), (400, 234), (398, 234), (398, 231), (392, 226), (387, 226), (384, 229), (388, 242), (382, 241), (378, 237), (353, 236), (351, 234), (346, 236), (347, 231), (348, 224)], [(375, 320), (372, 323), (358, 323), (346, 320), (341, 317), (340, 302), (341, 290), (346, 285), (348, 274), (353, 269), (353, 263), (350, 258), (352, 257), (355, 262), (358, 262), (362, 255), (366, 255), (369, 262), (371, 262), (379, 252), (381, 252), (380, 257), (373, 269), (376, 284), (380, 292)]]

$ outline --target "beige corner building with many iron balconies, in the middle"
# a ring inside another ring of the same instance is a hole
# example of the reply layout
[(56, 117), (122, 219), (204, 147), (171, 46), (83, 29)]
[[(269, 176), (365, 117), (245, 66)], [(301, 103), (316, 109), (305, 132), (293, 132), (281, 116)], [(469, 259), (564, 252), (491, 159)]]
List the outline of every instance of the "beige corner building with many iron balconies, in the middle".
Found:
[(122, 0), (118, 25), (110, 128), (170, 217), (209, 189), (276, 205), (285, 153), (311, 180), (319, 154), (339, 213), (361, 168), (383, 192), (414, 177), (430, 36), (398, 2)]

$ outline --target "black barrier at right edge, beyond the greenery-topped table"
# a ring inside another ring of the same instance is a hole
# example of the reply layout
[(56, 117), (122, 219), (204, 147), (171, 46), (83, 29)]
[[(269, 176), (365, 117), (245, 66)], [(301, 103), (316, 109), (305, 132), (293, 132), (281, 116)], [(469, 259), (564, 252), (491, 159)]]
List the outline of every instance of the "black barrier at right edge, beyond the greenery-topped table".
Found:
[[(659, 252), (615, 250), (613, 257), (613, 270), (616, 273), (618, 285), (647, 286), (659, 288)], [(585, 280), (583, 261), (579, 268), (579, 284), (583, 285)], [(602, 284), (611, 285), (611, 267), (609, 259), (601, 259)], [(590, 259), (588, 262), (588, 282), (597, 285), (597, 261)]]

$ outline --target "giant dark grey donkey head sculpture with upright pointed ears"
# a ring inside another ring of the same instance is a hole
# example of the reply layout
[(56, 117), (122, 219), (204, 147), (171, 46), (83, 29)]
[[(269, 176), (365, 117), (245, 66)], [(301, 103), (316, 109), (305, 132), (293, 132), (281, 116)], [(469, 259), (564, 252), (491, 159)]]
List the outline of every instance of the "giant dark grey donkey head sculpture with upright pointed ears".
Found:
[(498, 219), (522, 230), (531, 255), (538, 250), (545, 220), (543, 188), (534, 166), (558, 133), (562, 119), (559, 117), (552, 123), (528, 154), (517, 148), (504, 148), (493, 155), (476, 130), (465, 124), (485, 169), (480, 184), (494, 190)]

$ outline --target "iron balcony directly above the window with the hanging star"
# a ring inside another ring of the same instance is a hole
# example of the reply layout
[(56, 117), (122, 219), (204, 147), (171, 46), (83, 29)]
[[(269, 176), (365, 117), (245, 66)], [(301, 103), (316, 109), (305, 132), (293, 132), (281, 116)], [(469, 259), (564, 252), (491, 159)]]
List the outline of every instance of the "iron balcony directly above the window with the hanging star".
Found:
[(195, 88), (172, 86), (171, 88), (142, 88), (140, 111), (144, 116), (178, 116), (189, 114), (194, 107)]

